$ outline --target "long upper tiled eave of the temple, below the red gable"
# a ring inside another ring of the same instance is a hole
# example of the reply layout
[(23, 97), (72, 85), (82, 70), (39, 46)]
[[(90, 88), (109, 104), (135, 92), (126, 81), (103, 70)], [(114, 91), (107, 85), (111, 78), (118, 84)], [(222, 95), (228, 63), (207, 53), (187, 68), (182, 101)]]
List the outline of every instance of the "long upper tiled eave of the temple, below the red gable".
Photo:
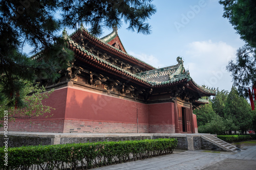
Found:
[[(76, 38), (79, 39), (80, 38), (80, 31), (82, 31), (82, 34), (84, 37), (87, 37), (88, 40), (90, 40), (90, 42), (92, 44), (94, 44), (95, 46), (98, 46), (100, 48), (102, 48), (105, 51), (108, 51), (110, 53), (112, 53), (113, 55), (117, 55), (119, 56), (121, 59), (129, 61), (135, 65), (140, 66), (141, 68), (145, 68), (146, 70), (152, 70), (152, 69), (156, 69), (155, 67), (121, 51), (118, 50), (117, 48), (115, 48), (114, 46), (103, 42), (102, 40), (100, 40), (99, 38), (93, 36), (92, 34), (90, 34), (86, 29), (82, 28), (77, 30), (76, 32), (74, 32), (70, 37), (71, 38)], [(121, 41), (120, 41), (121, 42)]]

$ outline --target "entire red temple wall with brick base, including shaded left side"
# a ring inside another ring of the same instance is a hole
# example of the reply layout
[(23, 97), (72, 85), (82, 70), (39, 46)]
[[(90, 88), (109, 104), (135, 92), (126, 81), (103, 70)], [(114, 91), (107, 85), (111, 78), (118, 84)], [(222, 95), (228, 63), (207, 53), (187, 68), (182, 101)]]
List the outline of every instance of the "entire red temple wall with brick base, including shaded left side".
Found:
[[(56, 109), (51, 112), (51, 117), (16, 119), (15, 123), (9, 123), (9, 130), (60, 133), (175, 133), (174, 103), (143, 104), (74, 86), (55, 90), (47, 103)], [(194, 122), (197, 132), (196, 115)]]

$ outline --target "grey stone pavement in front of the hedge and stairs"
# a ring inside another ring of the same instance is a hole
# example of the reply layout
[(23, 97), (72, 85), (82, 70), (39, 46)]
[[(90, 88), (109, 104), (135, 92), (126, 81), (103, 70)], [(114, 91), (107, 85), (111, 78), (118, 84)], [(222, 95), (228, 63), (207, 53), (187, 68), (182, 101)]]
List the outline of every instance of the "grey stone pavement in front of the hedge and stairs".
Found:
[(126, 162), (100, 169), (256, 169), (256, 146), (244, 147), (241, 152), (214, 152), (206, 150), (175, 151), (173, 154)]

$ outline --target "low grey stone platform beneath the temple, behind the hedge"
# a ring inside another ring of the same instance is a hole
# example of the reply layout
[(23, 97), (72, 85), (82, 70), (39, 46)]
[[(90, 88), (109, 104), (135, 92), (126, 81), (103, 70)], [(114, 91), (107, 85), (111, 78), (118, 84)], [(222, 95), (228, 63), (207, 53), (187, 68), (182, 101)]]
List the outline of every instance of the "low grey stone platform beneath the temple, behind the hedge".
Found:
[[(157, 138), (177, 138), (177, 150), (220, 150), (218, 145), (208, 142), (202, 135), (209, 134), (183, 134), (183, 133), (42, 133), (42, 132), (8, 132), (9, 147), (23, 145), (48, 145), (66, 143), (85, 143), (97, 141), (141, 140)], [(0, 132), (1, 144), (4, 142), (4, 132)]]

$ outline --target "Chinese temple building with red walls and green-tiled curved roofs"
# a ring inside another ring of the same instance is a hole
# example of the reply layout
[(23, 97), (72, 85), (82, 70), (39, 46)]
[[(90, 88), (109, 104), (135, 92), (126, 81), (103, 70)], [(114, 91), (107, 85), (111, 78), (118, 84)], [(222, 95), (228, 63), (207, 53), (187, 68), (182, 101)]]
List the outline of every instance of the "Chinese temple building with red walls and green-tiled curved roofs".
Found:
[(155, 68), (129, 54), (117, 29), (103, 38), (82, 25), (63, 37), (75, 54), (48, 104), (52, 116), (16, 119), (10, 131), (59, 133), (198, 133), (193, 109), (215, 90), (196, 84), (177, 64)]

